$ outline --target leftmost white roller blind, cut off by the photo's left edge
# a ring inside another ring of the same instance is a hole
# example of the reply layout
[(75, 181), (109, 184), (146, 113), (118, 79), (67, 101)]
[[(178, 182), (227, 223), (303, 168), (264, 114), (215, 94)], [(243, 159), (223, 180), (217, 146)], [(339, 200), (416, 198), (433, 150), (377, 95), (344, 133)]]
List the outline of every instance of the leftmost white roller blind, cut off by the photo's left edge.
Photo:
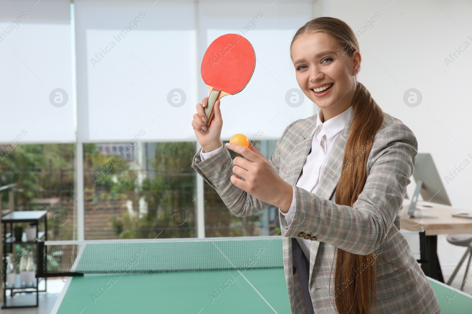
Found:
[(70, 2), (0, 1), (0, 59), (0, 143), (74, 142)]

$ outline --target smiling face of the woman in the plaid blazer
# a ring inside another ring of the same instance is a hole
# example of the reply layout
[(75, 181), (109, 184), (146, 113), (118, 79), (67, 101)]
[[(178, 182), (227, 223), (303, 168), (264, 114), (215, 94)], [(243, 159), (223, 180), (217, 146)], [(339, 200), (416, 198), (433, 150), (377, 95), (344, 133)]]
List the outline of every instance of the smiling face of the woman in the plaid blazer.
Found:
[[(352, 105), (354, 75), (361, 62), (358, 51), (349, 56), (328, 34), (305, 33), (292, 45), (292, 61), (298, 85), (318, 107), (341, 113)], [(326, 87), (329, 89), (315, 92)]]

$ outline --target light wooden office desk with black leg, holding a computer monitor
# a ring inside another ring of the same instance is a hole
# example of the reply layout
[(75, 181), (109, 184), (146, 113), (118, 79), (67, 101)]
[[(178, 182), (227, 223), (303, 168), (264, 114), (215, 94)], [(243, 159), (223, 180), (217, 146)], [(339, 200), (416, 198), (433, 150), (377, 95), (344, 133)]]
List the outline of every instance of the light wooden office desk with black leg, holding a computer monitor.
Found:
[[(417, 218), (413, 220), (405, 220), (405, 210), (408, 210), (411, 200), (404, 200), (403, 209), (400, 210), (400, 223), (402, 228), (409, 231), (426, 231), (426, 259), (428, 263), (422, 263), (421, 269), (427, 276), (444, 282), (441, 267), (438, 260), (438, 234), (472, 234), (472, 219), (462, 217), (452, 217), (451, 215), (457, 209), (451, 206), (431, 203), (427, 201), (418, 201), (416, 206)], [(432, 215), (438, 218), (425, 218), (422, 215)]]

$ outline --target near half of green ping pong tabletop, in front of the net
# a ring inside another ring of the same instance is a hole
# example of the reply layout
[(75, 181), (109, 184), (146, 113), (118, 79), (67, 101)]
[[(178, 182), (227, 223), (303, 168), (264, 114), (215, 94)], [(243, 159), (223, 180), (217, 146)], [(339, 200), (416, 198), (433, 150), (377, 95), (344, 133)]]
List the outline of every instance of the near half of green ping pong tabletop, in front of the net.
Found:
[(115, 275), (114, 283), (113, 275), (69, 277), (51, 313), (290, 313), (282, 268), (242, 274), (245, 278), (229, 270), (124, 274)]

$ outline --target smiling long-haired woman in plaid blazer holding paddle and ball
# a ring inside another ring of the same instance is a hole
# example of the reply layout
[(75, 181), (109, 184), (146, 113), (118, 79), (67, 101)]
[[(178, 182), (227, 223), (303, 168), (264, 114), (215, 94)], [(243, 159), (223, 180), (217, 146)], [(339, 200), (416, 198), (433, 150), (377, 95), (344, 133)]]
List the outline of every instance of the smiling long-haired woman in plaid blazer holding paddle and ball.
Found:
[[(215, 122), (201, 132), (192, 167), (237, 217), (279, 208), (292, 313), (440, 313), (430, 282), (399, 232), (418, 142), (357, 81), (359, 43), (345, 22), (319, 17), (294, 35), (296, 81), (320, 109), (292, 122), (266, 159), (255, 147), (222, 145)], [(241, 154), (231, 164), (228, 149)], [(244, 180), (243, 180), (244, 179)]]

